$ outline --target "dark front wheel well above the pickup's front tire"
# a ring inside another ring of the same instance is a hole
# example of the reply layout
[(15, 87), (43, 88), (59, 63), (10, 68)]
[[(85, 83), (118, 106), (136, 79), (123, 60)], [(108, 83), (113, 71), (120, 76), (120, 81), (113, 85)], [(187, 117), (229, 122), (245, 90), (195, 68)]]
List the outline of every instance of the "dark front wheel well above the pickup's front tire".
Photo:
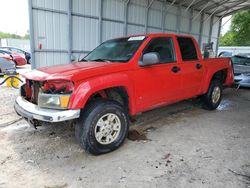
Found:
[(112, 88), (107, 88), (107, 89), (97, 91), (90, 96), (86, 104), (89, 104), (90, 102), (93, 102), (94, 100), (97, 100), (100, 98), (117, 101), (122, 106), (124, 106), (124, 109), (126, 110), (127, 113), (129, 112), (128, 93), (126, 89), (122, 86), (112, 87)]

